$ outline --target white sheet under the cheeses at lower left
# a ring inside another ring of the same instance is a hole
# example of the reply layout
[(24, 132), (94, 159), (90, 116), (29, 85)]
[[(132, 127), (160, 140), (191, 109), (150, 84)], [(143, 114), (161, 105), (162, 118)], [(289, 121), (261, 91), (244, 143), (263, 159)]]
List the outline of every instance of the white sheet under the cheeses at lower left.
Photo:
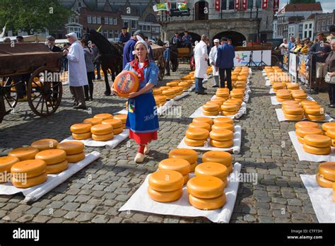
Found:
[(76, 172), (85, 168), (86, 165), (93, 163), (93, 161), (100, 158), (100, 156), (101, 154), (98, 151), (93, 151), (89, 154), (86, 154), (85, 159), (79, 161), (78, 163), (69, 163), (69, 168), (63, 172), (60, 172), (59, 174), (47, 175), (48, 178), (46, 182), (34, 187), (21, 189), (13, 186), (11, 182), (0, 184), (0, 194), (10, 195), (22, 192), (25, 196), (25, 201), (36, 201), (43, 195), (47, 194), (47, 192), (51, 191), (69, 177), (74, 175)]

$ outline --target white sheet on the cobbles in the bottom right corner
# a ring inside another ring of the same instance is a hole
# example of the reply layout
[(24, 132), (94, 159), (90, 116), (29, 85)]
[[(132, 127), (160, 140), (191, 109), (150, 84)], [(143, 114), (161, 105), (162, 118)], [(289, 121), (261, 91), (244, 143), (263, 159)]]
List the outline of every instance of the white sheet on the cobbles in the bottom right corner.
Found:
[(319, 223), (335, 223), (335, 201), (333, 189), (322, 188), (317, 184), (315, 175), (300, 175)]

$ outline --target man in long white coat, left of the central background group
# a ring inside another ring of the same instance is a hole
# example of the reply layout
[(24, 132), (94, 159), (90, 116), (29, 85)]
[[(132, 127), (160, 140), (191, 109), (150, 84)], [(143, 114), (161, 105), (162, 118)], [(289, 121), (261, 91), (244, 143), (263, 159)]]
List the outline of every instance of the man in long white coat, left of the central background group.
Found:
[(202, 81), (204, 80), (206, 71), (207, 71), (207, 45), (206, 40), (208, 37), (206, 35), (201, 35), (201, 40), (194, 47), (194, 61), (195, 61), (195, 72), (194, 77), (196, 78), (196, 94), (199, 95), (207, 95), (204, 92), (204, 88), (202, 87)]

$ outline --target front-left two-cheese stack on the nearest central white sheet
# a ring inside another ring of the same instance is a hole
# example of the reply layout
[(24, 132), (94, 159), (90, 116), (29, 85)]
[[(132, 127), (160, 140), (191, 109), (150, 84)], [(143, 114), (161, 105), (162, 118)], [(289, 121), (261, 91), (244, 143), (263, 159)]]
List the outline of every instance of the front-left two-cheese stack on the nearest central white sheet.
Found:
[(148, 195), (154, 201), (170, 202), (182, 197), (184, 177), (174, 170), (158, 170), (149, 176)]

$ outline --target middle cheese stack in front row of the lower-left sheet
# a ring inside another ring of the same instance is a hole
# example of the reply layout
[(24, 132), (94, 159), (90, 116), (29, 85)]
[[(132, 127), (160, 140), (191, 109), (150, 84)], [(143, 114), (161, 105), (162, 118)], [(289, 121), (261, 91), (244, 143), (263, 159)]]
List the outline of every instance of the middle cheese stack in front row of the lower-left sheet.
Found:
[(66, 152), (59, 148), (41, 151), (37, 153), (35, 158), (43, 160), (47, 164), (45, 168), (47, 174), (59, 173), (68, 168)]

